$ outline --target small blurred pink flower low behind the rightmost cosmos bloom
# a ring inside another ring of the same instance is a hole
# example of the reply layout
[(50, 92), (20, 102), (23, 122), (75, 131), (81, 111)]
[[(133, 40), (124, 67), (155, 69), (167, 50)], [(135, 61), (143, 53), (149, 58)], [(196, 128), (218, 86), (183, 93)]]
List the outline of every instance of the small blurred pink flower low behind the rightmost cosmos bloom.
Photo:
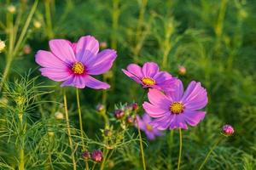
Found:
[(142, 119), (140, 118), (140, 116), (137, 116), (137, 122), (138, 122), (139, 128), (144, 133), (146, 133), (147, 138), (149, 140), (154, 140), (156, 136), (161, 135), (160, 130), (150, 125), (151, 117), (148, 116), (146, 113), (143, 115)]

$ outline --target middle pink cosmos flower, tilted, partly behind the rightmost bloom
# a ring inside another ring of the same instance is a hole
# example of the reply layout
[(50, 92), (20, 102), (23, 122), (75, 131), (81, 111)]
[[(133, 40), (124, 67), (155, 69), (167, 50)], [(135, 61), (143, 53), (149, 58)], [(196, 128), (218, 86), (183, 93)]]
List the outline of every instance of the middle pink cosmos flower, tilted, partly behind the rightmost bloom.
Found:
[(159, 66), (154, 62), (147, 62), (140, 67), (136, 64), (127, 66), (127, 70), (122, 69), (127, 77), (141, 84), (143, 88), (156, 88), (160, 90), (172, 91), (172, 85), (176, 83), (166, 71), (160, 71)]

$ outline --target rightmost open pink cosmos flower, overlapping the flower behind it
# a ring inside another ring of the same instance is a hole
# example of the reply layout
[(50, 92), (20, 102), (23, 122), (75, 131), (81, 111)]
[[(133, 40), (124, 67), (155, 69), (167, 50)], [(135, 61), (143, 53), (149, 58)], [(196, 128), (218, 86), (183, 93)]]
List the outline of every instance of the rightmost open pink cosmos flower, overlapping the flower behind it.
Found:
[(149, 102), (143, 103), (144, 110), (154, 117), (150, 124), (160, 130), (167, 128), (188, 129), (187, 124), (196, 126), (205, 116), (201, 110), (207, 105), (207, 91), (200, 82), (190, 82), (183, 92), (183, 83), (177, 81), (175, 91), (163, 94), (160, 90), (149, 89)]

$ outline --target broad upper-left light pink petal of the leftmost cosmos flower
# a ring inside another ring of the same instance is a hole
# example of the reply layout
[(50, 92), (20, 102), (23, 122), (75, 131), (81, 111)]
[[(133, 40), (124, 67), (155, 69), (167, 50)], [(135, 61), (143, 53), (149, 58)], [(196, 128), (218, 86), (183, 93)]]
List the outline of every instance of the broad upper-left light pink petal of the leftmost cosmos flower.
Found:
[(61, 59), (67, 64), (72, 64), (77, 61), (73, 48), (69, 42), (64, 39), (54, 39), (49, 41), (49, 48), (56, 57)]

